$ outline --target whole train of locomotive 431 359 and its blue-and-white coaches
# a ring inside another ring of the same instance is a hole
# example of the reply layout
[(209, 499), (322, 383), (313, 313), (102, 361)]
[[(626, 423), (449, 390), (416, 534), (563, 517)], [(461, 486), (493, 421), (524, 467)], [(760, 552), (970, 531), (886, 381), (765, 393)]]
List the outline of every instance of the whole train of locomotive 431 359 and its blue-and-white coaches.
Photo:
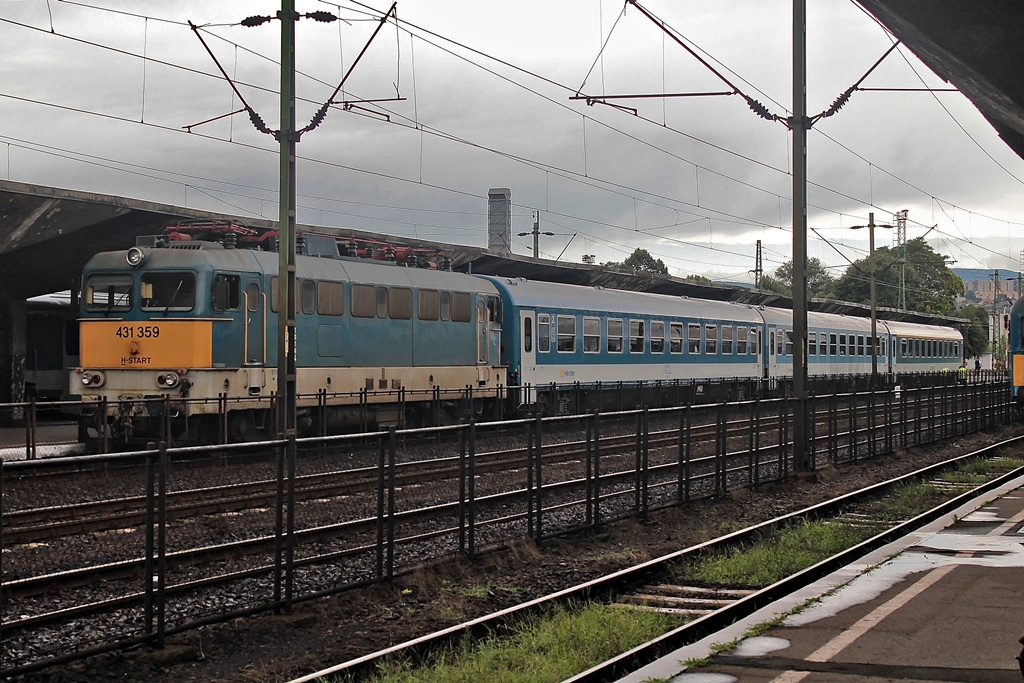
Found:
[[(440, 253), (297, 239), (299, 434), (573, 410), (581, 387), (793, 372), (792, 311), (452, 271)], [(93, 256), (72, 392), (83, 438), (271, 437), (275, 233), (181, 223)], [(406, 267), (402, 267), (406, 266)], [(869, 321), (811, 312), (809, 373), (871, 371)], [(887, 374), (953, 370), (951, 328), (879, 322)]]

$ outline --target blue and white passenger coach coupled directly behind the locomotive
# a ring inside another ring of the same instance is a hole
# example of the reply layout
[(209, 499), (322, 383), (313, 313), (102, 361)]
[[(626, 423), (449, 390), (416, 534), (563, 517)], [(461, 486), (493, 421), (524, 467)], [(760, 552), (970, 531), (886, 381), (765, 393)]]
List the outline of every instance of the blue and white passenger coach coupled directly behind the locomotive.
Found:
[[(761, 377), (760, 314), (746, 305), (488, 278), (504, 308), (510, 385)], [(534, 402), (532, 393), (523, 402)]]

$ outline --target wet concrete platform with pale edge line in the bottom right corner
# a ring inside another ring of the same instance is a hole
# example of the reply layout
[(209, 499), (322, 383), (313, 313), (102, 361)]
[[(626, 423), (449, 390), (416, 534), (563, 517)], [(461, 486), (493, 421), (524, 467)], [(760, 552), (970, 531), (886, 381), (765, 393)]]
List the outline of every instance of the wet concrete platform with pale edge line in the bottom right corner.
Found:
[[(622, 680), (1024, 681), (1022, 525), (1024, 478)], [(715, 644), (798, 607), (713, 665), (687, 670)]]

